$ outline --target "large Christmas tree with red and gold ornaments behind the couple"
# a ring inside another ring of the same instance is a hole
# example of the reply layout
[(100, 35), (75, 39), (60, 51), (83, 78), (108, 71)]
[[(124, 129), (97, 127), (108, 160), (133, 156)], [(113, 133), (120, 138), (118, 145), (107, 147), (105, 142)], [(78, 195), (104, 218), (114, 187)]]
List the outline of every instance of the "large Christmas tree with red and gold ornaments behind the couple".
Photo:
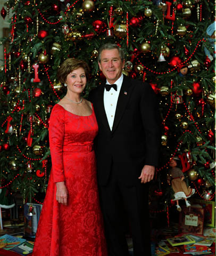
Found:
[(104, 82), (97, 50), (111, 42), (126, 51), (123, 74), (150, 83), (160, 102), (161, 159), (151, 210), (164, 211), (172, 202), (172, 157), (180, 158), (196, 196), (212, 200), (214, 10), (212, 0), (9, 0), (1, 11), (3, 18), (12, 12), (11, 35), (2, 38), (1, 188), (21, 193), (24, 202), (43, 203), (51, 170), (49, 116), (65, 95), (57, 69), (67, 58), (85, 60), (91, 70), (88, 97)]

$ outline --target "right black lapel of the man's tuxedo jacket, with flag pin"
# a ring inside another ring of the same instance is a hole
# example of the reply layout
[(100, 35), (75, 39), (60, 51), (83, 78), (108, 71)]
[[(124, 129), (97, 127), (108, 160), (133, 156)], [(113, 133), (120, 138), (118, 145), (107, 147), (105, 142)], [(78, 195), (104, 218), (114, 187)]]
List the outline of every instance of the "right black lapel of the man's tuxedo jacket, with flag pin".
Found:
[(130, 98), (130, 94), (132, 92), (132, 89), (134, 86), (130, 83), (130, 80), (124, 76), (123, 77), (123, 82), (121, 85), (121, 90), (119, 93), (119, 98), (117, 102), (117, 108), (115, 110), (115, 117), (114, 117), (114, 123), (113, 123), (113, 128), (112, 128), (112, 133), (115, 131), (117, 128), (119, 121), (124, 113), (124, 109), (127, 106), (128, 100)]

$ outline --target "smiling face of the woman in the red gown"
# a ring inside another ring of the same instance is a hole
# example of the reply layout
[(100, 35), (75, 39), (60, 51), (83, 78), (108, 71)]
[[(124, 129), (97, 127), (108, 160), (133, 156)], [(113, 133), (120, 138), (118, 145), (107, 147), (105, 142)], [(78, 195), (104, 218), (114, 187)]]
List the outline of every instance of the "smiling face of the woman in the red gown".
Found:
[(87, 78), (84, 68), (78, 68), (68, 74), (65, 83), (68, 85), (68, 91), (73, 93), (82, 93), (86, 87)]

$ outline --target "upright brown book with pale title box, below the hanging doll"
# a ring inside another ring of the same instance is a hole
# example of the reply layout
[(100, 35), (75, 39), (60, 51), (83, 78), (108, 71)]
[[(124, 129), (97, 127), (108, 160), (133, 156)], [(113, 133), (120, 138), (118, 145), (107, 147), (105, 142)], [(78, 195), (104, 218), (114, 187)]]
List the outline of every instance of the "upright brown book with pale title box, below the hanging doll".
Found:
[(183, 206), (179, 214), (179, 233), (203, 235), (204, 209), (198, 206)]

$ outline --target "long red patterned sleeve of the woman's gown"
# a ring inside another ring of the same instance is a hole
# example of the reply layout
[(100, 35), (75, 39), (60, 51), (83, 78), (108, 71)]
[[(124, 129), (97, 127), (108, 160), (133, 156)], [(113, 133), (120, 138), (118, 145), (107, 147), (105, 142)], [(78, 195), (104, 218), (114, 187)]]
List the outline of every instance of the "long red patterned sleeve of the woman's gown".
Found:
[(64, 181), (62, 149), (64, 142), (64, 109), (56, 104), (49, 119), (49, 147), (52, 159), (53, 181)]

